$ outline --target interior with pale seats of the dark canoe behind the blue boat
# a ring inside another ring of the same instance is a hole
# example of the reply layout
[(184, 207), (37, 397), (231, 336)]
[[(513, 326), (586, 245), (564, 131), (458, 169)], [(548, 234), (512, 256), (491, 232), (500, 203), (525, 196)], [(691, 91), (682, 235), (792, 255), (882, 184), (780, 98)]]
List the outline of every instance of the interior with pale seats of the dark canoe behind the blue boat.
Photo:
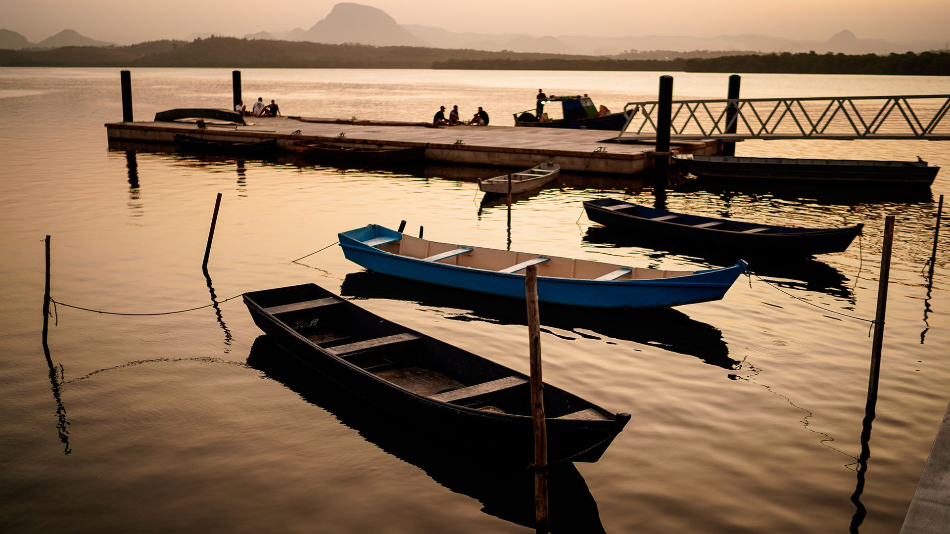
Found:
[(740, 220), (714, 219), (699, 215), (689, 215), (666, 210), (657, 210), (651, 207), (627, 203), (622, 200), (615, 199), (591, 200), (589, 202), (585, 202), (585, 204), (609, 208), (613, 213), (650, 220), (657, 223), (662, 222), (669, 225), (688, 226), (696, 229), (704, 228), (707, 230), (720, 232), (738, 232), (755, 236), (822, 234), (827, 232), (843, 231), (843, 229), (839, 228), (772, 226), (769, 224), (757, 224), (754, 222), (743, 222)]

